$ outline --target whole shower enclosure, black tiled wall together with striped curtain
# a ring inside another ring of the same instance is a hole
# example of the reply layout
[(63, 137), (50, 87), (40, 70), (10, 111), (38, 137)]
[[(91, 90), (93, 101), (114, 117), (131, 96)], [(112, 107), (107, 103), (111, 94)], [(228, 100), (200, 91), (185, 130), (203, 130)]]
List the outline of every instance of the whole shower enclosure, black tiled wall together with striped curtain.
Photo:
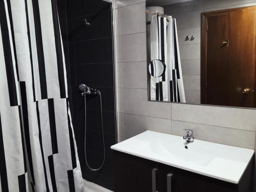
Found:
[(114, 189), (112, 32), (109, 1), (0, 0), (1, 192)]

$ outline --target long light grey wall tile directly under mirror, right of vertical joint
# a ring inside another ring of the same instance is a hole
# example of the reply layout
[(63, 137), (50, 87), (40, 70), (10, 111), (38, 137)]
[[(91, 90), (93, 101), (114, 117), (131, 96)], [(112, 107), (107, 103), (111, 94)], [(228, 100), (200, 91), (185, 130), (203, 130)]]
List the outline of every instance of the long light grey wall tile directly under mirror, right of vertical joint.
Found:
[(172, 119), (256, 131), (256, 110), (172, 103)]

